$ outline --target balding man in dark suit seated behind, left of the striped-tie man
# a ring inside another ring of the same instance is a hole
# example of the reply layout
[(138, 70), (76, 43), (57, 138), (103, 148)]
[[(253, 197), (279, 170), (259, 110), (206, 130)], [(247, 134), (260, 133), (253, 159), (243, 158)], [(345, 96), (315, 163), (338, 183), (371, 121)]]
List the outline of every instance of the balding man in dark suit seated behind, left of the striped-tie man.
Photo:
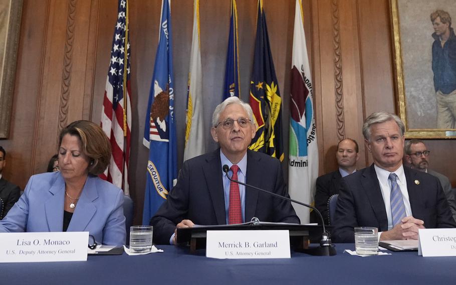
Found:
[[(334, 194), (339, 194), (342, 177), (356, 171), (356, 162), (359, 159), (359, 148), (356, 140), (344, 138), (337, 144), (336, 160), (339, 169), (317, 178), (315, 191), (315, 207), (321, 212), (326, 224), (329, 224), (328, 200)], [(311, 215), (312, 216), (312, 215)], [(320, 218), (316, 220), (320, 222)]]

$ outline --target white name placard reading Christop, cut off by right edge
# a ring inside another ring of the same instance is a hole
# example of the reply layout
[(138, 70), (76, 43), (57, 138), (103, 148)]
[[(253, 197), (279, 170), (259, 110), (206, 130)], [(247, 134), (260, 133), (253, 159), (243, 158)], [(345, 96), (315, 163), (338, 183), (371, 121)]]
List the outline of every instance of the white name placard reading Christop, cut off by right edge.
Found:
[(426, 256), (456, 256), (456, 228), (418, 229), (418, 254)]

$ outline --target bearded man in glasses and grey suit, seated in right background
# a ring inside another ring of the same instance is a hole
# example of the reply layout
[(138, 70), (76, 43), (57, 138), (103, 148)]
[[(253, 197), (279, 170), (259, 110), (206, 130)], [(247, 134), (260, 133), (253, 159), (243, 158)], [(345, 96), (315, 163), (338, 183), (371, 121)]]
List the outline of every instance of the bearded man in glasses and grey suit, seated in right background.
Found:
[(438, 178), (445, 193), (446, 201), (448, 201), (449, 208), (453, 215), (453, 219), (456, 221), (456, 201), (454, 200), (453, 189), (448, 177), (440, 174), (436, 171), (429, 169), (429, 157), (430, 151), (427, 150), (424, 141), (421, 139), (410, 139), (405, 142), (404, 158), (407, 161), (410, 168), (429, 173)]

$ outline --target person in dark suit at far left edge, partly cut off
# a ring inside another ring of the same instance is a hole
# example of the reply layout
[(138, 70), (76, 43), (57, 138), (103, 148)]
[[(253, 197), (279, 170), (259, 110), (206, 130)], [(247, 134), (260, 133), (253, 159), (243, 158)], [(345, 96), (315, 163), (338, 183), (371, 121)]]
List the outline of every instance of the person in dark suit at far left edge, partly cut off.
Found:
[(6, 166), (6, 156), (7, 152), (4, 148), (0, 146), (0, 199), (3, 203), (3, 212), (0, 210), (0, 220), (3, 219), (13, 207), (13, 205), (18, 202), (19, 197), (21, 196), (21, 189), (18, 186), (8, 182), (2, 176), (3, 168)]

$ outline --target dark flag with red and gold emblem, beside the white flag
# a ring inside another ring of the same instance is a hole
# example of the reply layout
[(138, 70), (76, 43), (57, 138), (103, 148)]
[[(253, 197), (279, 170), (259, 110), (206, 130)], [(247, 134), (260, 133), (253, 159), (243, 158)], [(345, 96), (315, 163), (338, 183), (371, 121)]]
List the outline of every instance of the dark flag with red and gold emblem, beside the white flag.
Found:
[(280, 97), (274, 61), (269, 45), (263, 2), (258, 1), (257, 36), (250, 81), (250, 106), (254, 112), (257, 133), (249, 149), (284, 160), (282, 134), (282, 98)]

